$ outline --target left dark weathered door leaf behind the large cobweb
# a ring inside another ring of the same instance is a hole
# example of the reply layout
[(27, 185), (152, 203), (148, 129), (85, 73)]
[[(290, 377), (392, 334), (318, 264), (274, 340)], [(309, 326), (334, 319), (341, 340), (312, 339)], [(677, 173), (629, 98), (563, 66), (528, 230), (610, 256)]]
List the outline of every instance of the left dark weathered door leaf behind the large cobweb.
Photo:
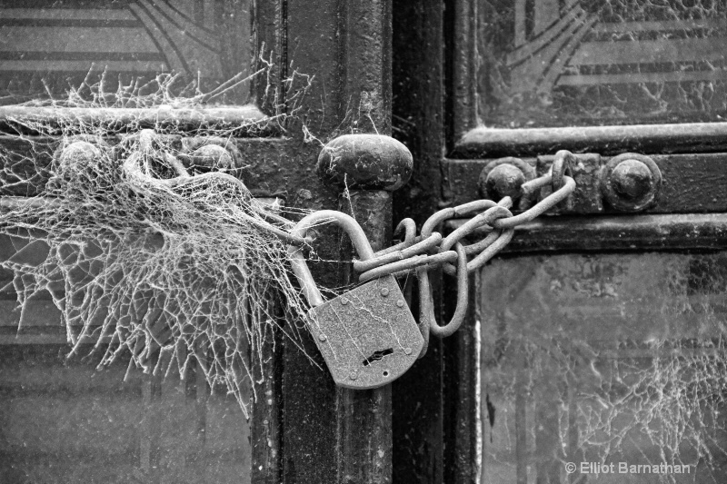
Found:
[[(133, 120), (129, 132), (168, 122), (183, 126), (189, 143), (212, 120), (229, 127), (227, 143), (255, 197), (311, 210), (353, 209), (381, 246), (391, 233), (390, 181), (349, 178), (358, 192), (339, 202), (344, 188), (323, 183), (315, 166), (324, 143), (340, 134), (374, 133), (386, 143), (391, 133), (391, 7), (338, 0), (2, 2), (3, 203), (42, 194), (35, 188), (43, 186), (43, 167), (53, 163), (58, 142), (25, 129), (34, 120), (116, 128)], [(264, 74), (194, 109), (33, 103), (82, 98), (95, 83), (109, 93), (144, 88), (164, 73), (178, 74), (178, 94), (194, 96), (258, 71)], [(239, 128), (255, 120), (277, 122)], [(25, 164), (7, 153), (21, 153)], [(318, 247), (323, 259), (341, 258), (342, 244), (333, 240)], [(18, 252), (13, 243), (3, 242), (4, 260)], [(319, 272), (329, 286), (347, 282), (338, 265)], [(18, 315), (9, 312), (12, 289), (3, 299), (4, 481), (391, 480), (390, 387), (335, 388), (307, 336), (293, 343), (280, 331), (264, 334), (246, 420), (234, 399), (224, 391), (211, 395), (194, 371), (182, 382), (131, 371), (124, 382), (124, 366), (94, 373), (85, 361), (65, 362), (68, 347), (51, 301), (33, 301), (19, 330)]]

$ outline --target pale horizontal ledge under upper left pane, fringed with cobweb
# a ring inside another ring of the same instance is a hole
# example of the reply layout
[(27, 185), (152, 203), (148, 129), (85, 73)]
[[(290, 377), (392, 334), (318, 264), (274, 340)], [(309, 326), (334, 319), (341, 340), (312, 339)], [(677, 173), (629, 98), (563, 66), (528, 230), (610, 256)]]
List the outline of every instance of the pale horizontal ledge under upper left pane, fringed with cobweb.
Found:
[[(200, 127), (219, 127), (236, 130), (234, 135), (275, 135), (275, 123), (265, 123), (267, 116), (254, 104), (223, 107), (34, 107), (0, 106), (0, 133), (55, 134), (54, 129), (69, 129), (73, 124), (86, 124), (113, 129), (115, 133), (127, 128), (174, 128), (175, 131)], [(34, 125), (44, 127), (43, 133)], [(246, 129), (247, 128), (247, 129)], [(71, 128), (72, 129), (72, 128)]]

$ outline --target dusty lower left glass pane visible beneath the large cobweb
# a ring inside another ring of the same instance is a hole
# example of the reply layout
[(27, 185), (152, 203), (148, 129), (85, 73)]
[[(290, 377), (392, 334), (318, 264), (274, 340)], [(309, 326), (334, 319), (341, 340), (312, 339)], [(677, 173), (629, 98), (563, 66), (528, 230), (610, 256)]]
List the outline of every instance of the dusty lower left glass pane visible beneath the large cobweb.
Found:
[(7, 483), (250, 482), (249, 424), (234, 397), (63, 345), (0, 347), (0, 476)]

